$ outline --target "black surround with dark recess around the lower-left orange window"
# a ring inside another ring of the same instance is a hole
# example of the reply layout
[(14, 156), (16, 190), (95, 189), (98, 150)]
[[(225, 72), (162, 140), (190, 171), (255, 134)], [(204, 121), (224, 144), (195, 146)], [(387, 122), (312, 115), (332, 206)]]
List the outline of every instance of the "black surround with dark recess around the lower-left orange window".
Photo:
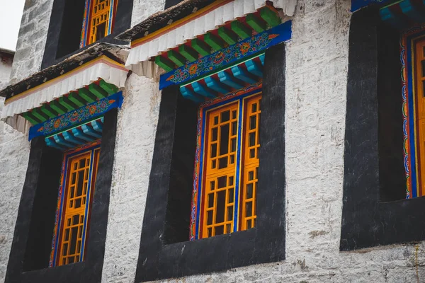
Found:
[(117, 109), (106, 113), (98, 175), (91, 207), (86, 258), (48, 267), (57, 190), (63, 154), (45, 145), (44, 137), (31, 141), (30, 158), (16, 219), (6, 283), (101, 282), (111, 192)]

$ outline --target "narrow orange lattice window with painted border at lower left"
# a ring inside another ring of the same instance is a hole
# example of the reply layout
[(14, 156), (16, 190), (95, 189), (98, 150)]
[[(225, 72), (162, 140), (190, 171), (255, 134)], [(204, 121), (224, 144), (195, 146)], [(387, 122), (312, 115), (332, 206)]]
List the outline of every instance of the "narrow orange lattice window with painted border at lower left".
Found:
[(99, 155), (100, 140), (64, 154), (50, 267), (84, 260)]

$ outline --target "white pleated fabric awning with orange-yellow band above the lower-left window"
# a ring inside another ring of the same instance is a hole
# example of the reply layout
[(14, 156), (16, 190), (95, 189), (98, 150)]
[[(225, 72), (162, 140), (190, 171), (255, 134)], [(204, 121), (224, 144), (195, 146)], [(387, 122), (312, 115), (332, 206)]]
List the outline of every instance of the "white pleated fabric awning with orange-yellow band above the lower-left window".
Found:
[(22, 93), (14, 93), (11, 98), (6, 99), (0, 118), (18, 131), (27, 132), (30, 122), (22, 117), (23, 113), (40, 108), (68, 93), (78, 92), (99, 79), (118, 88), (123, 87), (127, 74), (128, 69), (125, 69), (123, 64), (102, 55), (40, 86), (29, 88)]

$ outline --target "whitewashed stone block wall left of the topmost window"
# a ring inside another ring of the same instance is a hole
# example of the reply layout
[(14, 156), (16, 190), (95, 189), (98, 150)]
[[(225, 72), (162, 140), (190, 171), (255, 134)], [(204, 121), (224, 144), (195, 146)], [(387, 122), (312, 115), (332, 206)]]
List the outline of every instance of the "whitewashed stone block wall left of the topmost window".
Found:
[(23, 8), (11, 83), (40, 71), (53, 0), (26, 0)]

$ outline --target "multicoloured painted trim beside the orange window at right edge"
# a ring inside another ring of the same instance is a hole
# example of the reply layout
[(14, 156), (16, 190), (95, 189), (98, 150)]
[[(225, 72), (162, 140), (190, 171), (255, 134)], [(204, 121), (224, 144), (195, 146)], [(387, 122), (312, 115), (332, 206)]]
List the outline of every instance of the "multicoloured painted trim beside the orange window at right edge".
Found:
[(404, 170), (406, 172), (406, 198), (411, 199), (419, 195), (419, 176), (416, 160), (416, 99), (413, 85), (414, 59), (413, 40), (425, 35), (425, 24), (405, 30), (400, 40), (400, 52), (402, 63), (402, 99), (403, 99), (403, 134), (404, 134)]

